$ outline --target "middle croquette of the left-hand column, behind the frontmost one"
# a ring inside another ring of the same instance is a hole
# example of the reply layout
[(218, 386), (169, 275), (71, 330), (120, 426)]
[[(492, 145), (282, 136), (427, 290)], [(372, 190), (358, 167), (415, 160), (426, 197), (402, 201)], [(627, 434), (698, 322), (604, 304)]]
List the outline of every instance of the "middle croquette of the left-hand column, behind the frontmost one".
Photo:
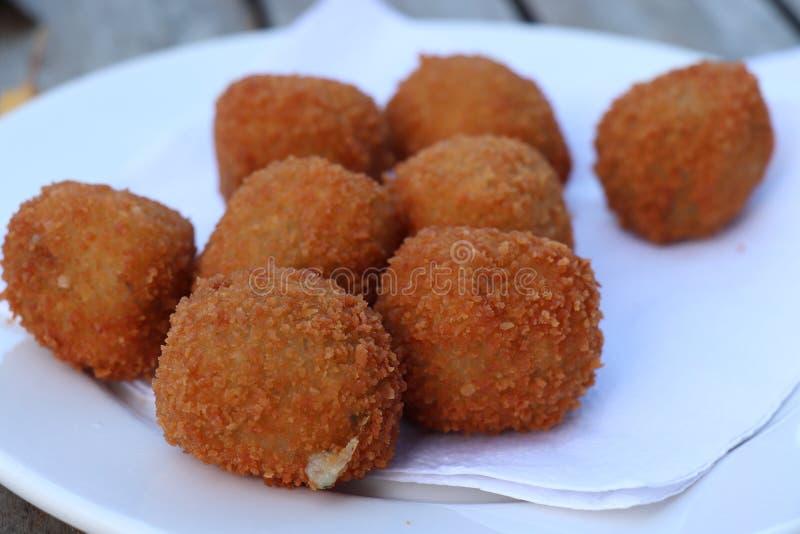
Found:
[(197, 272), (210, 277), (273, 262), (319, 269), (369, 295), (402, 238), (383, 186), (322, 158), (290, 157), (253, 173), (231, 197)]

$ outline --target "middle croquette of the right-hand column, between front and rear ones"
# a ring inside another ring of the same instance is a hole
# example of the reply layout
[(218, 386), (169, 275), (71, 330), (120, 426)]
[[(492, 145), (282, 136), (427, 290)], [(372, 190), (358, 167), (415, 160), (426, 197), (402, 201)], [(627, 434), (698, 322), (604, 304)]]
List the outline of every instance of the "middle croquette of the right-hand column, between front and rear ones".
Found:
[(427, 226), (529, 230), (572, 246), (561, 183), (530, 145), (456, 136), (422, 149), (387, 180), (414, 234)]

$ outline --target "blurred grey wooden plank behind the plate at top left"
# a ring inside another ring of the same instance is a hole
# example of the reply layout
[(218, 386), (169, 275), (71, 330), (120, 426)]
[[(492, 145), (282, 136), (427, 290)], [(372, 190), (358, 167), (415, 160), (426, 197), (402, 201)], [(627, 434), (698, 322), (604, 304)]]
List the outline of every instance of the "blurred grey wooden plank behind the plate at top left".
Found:
[(254, 27), (244, 1), (14, 1), (47, 28), (42, 88), (145, 52)]

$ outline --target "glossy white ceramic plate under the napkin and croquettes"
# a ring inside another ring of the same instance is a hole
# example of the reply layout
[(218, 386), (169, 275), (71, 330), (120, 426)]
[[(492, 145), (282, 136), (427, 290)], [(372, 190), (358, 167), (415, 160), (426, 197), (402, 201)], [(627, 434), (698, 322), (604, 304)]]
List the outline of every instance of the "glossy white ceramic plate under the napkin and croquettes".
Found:
[[(385, 16), (374, 6), (362, 7), (354, 14)], [(442, 42), (462, 42), (465, 49), (491, 42), (558, 50), (555, 62), (586, 69), (601, 69), (613, 58), (646, 63), (645, 70), (656, 73), (696, 58), (662, 45), (516, 24), (424, 23), (417, 30), (435, 33)], [(4, 117), (0, 223), (55, 180), (130, 185), (132, 170), (192, 124), (198, 110), (249, 70), (251, 59), (280, 53), (299, 39), (302, 32), (267, 31), (155, 54), (67, 84)], [(385, 100), (396, 80), (380, 66), (364, 72), (373, 83), (354, 81), (377, 87), (375, 96)], [(215, 184), (193, 184), (187, 177), (185, 186), (157, 198), (192, 216), (185, 192), (206, 194)], [(200, 245), (209, 231), (198, 228)], [(792, 521), (800, 502), (793, 496), (800, 495), (800, 486), (787, 475), (800, 469), (796, 399), (779, 421), (680, 496), (631, 510), (576, 512), (471, 490), (369, 480), (335, 492), (266, 488), (169, 447), (137, 411), (130, 391), (76, 373), (19, 327), (0, 326), (0, 483), (93, 531), (733, 532), (798, 526)], [(772, 491), (759, 491), (766, 485)]]

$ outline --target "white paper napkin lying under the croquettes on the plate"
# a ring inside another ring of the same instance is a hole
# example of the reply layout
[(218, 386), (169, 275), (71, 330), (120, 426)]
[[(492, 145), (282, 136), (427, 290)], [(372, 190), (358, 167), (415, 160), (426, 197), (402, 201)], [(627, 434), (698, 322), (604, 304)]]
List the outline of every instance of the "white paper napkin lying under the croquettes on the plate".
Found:
[[(605, 367), (583, 406), (551, 431), (465, 437), (405, 426), (390, 468), (371, 476), (580, 509), (629, 507), (680, 492), (767, 423), (800, 381), (800, 51), (751, 62), (777, 150), (745, 213), (713, 239), (658, 247), (617, 226), (591, 173), (591, 142), (611, 99), (676, 66), (675, 56), (647, 45), (635, 53), (608, 45), (605, 61), (582, 62), (579, 51), (521, 46), (524, 30), (513, 26), (501, 39), (460, 28), (442, 34), (374, 2), (332, 0), (288, 30), (281, 46), (242, 58), (241, 73), (330, 76), (381, 102), (420, 51), (482, 52), (536, 78), (575, 161), (566, 197), (577, 252), (591, 258), (603, 286)], [(539, 31), (541, 42), (563, 44), (552, 30)], [(687, 58), (678, 63), (693, 59)], [(189, 214), (201, 245), (222, 212), (212, 104), (126, 170), (133, 190)], [(196, 184), (191, 195), (187, 183)]]

